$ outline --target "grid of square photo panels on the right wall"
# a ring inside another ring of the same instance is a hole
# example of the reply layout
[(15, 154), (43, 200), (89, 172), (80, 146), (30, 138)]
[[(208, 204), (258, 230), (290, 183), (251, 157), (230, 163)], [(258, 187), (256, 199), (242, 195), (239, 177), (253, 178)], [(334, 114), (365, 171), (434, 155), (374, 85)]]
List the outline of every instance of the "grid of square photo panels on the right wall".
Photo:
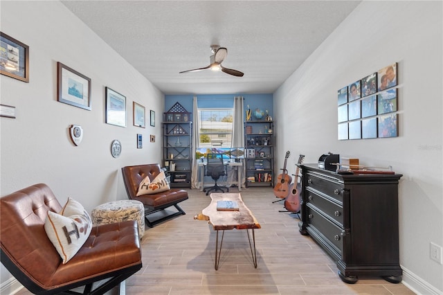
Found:
[(398, 64), (338, 90), (338, 140), (397, 137)]

